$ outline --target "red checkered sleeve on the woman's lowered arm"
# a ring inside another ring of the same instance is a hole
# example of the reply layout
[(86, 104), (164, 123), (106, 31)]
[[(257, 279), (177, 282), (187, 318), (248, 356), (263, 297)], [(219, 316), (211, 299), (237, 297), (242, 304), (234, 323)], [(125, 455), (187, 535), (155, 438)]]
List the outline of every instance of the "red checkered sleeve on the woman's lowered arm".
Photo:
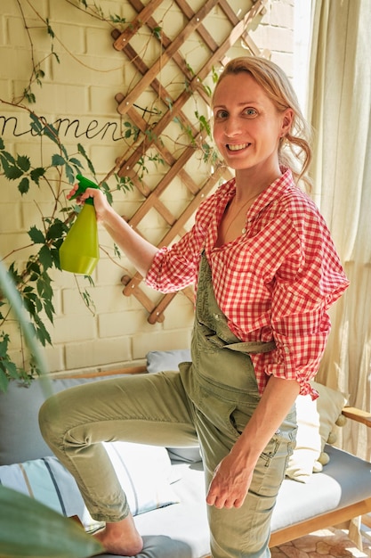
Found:
[(318, 372), (331, 329), (327, 309), (349, 282), (327, 230), (310, 231), (310, 241), (308, 234), (300, 239), (297, 258), (276, 275), (270, 308), (276, 349), (262, 358), (266, 374), (296, 380), (302, 395), (316, 398), (310, 381)]

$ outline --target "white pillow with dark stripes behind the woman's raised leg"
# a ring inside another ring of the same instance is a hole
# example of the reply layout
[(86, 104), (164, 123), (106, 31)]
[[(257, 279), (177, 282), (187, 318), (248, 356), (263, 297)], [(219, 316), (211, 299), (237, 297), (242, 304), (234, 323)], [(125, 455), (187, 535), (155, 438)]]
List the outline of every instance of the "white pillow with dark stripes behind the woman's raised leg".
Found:
[[(105, 444), (133, 515), (178, 502), (170, 484), (165, 447), (129, 442)], [(77, 515), (85, 530), (101, 526), (87, 511), (76, 480), (56, 457), (0, 466), (0, 484), (18, 490), (67, 517)]]

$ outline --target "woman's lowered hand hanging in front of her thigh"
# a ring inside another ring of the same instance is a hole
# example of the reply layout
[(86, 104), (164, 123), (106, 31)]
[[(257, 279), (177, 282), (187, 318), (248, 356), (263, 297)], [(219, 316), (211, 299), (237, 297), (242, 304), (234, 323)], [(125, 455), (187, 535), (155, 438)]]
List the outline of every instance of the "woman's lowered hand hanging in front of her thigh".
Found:
[(213, 480), (206, 496), (208, 505), (218, 509), (241, 507), (253, 477), (254, 469), (246, 470), (246, 464), (238, 463), (233, 451), (222, 459), (214, 471)]

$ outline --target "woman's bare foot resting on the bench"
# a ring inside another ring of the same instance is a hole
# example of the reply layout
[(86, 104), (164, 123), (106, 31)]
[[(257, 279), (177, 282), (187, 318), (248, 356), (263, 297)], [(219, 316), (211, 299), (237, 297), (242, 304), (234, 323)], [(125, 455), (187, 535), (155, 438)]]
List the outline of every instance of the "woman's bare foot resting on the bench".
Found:
[(132, 515), (117, 523), (107, 523), (106, 527), (95, 533), (93, 537), (100, 541), (108, 554), (134, 556), (143, 548), (143, 541), (135, 527)]

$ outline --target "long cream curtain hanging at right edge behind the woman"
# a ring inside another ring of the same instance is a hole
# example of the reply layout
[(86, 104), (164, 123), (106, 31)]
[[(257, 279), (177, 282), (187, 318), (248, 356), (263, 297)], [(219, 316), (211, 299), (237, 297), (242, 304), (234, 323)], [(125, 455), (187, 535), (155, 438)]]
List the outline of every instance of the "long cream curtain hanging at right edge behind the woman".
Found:
[[(371, 3), (316, 0), (308, 112), (315, 131), (313, 198), (351, 286), (331, 310), (319, 381), (371, 413)], [(341, 445), (371, 459), (371, 429), (347, 425)]]

